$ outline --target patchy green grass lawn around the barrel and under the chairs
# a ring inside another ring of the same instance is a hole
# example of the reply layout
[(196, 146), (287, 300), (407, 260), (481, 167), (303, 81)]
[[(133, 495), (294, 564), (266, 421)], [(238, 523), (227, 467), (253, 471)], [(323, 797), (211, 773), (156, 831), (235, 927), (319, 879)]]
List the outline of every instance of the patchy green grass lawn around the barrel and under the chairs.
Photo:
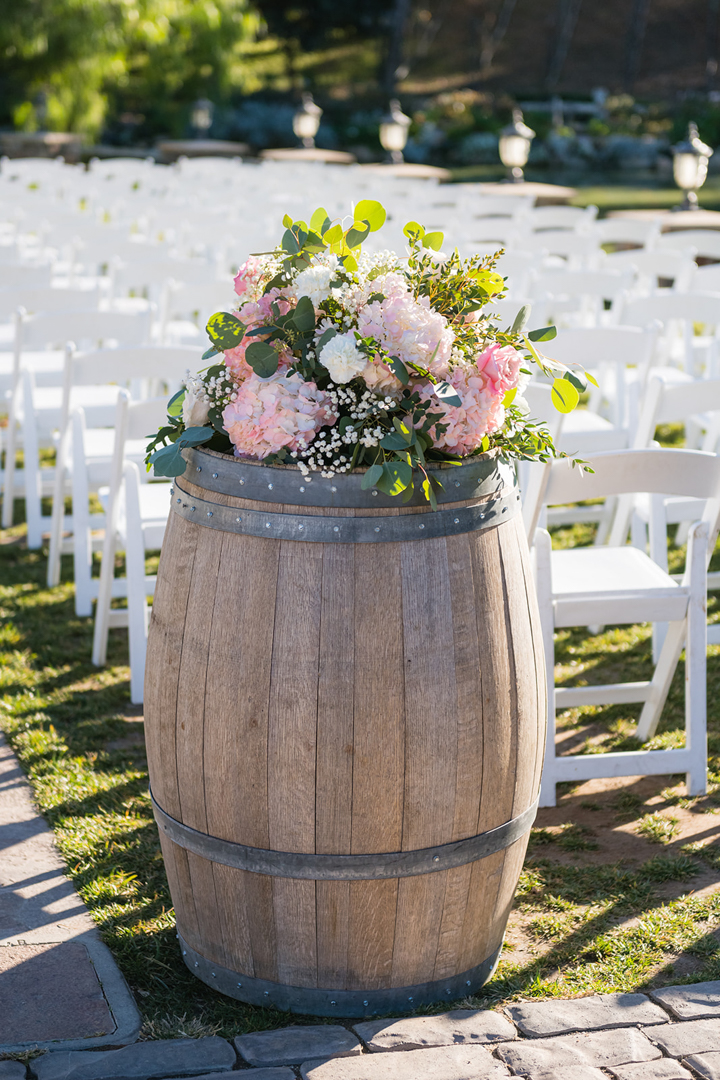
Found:
[[(69, 562), (63, 583), (46, 589), (44, 555), (28, 552), (23, 535), (18, 524), (0, 544), (0, 727), (135, 993), (144, 1037), (285, 1025), (287, 1014), (223, 998), (181, 962), (125, 635), (113, 631), (109, 665), (93, 667), (92, 622), (73, 615)], [(592, 532), (555, 539), (587, 543)], [(710, 607), (720, 616), (717, 600)], [(533, 829), (498, 972), (463, 1004), (720, 977), (720, 648), (710, 653), (710, 794), (687, 799), (678, 777), (566, 785)], [(562, 631), (557, 662), (565, 683), (647, 678), (649, 627)], [(679, 671), (651, 746), (682, 743), (682, 699)], [(559, 737), (570, 750), (633, 748), (636, 716), (631, 706), (571, 710)]]

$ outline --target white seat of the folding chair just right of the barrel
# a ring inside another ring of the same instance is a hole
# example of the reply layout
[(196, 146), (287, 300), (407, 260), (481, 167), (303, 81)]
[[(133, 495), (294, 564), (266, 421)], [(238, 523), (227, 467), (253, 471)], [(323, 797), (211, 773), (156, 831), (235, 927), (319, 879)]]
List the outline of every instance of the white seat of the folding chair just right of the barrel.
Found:
[(554, 551), (556, 626), (684, 618), (688, 591), (636, 548)]

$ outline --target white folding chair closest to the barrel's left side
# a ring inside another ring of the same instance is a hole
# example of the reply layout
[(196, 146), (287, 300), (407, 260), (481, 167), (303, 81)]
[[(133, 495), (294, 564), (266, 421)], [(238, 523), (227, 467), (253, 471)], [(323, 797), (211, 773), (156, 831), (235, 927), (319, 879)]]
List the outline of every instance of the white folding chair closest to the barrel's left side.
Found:
[[(131, 701), (142, 702), (145, 654), (148, 638), (148, 597), (154, 593), (155, 578), (146, 575), (147, 551), (162, 546), (173, 485), (140, 484), (137, 465), (124, 457), (127, 440), (141, 437), (157, 423), (153, 402), (133, 402), (126, 392), (119, 396), (116, 451), (112, 458), (110, 487), (106, 496), (106, 529), (103, 563), (95, 610), (93, 663), (107, 660), (108, 633), (114, 626), (127, 626), (131, 666)], [(113, 610), (113, 595), (122, 595), (114, 576), (118, 551), (125, 552), (127, 608)]]

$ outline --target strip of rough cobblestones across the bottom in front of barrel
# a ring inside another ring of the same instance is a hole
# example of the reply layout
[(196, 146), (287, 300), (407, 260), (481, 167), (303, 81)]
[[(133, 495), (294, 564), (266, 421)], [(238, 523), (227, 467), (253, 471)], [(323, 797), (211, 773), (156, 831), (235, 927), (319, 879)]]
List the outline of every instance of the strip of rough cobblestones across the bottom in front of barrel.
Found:
[[(683, 1017), (697, 1017), (688, 1018)], [(0, 1080), (720, 1080), (720, 980), (6, 1063)], [(240, 1078), (239, 1078), (240, 1080)]]

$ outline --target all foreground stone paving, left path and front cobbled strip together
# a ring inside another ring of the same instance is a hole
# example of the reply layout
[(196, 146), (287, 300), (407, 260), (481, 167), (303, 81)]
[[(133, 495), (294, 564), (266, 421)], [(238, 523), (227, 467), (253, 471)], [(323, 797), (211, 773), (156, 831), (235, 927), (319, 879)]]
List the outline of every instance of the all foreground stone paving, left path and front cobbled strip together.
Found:
[[(140, 1017), (0, 734), (0, 1080), (720, 1080), (720, 981), (135, 1042)], [(28, 1065), (1, 1055), (46, 1052)], [(103, 1049), (106, 1048), (106, 1049)], [(240, 1080), (240, 1078), (239, 1078)]]

